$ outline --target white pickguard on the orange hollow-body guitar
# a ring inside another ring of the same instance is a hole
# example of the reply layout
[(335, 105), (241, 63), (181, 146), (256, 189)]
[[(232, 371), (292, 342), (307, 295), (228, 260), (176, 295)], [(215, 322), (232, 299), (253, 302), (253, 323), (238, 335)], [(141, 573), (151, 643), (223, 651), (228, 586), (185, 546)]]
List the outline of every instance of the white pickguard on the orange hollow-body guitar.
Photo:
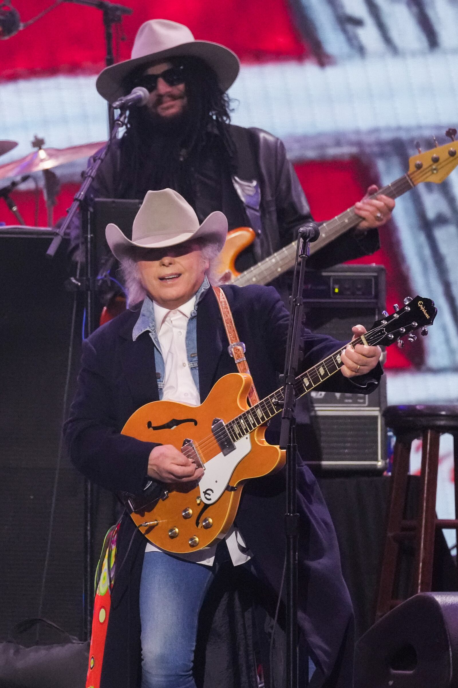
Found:
[(205, 463), (205, 473), (199, 482), (205, 504), (214, 504), (229, 485), (234, 469), (251, 451), (250, 436), (242, 437), (235, 445), (236, 449), (227, 456), (220, 453)]

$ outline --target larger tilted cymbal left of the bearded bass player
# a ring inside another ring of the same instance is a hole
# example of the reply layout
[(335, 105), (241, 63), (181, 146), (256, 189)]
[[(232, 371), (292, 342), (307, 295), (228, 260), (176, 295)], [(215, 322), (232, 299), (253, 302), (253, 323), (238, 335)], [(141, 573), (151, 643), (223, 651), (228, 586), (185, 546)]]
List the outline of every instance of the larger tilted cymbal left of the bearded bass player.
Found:
[(71, 146), (70, 148), (39, 148), (33, 153), (25, 155), (21, 160), (8, 162), (0, 166), (0, 179), (5, 177), (17, 177), (31, 172), (49, 170), (51, 167), (63, 165), (79, 158), (89, 158), (102, 146), (104, 141), (97, 143), (84, 143), (81, 146)]

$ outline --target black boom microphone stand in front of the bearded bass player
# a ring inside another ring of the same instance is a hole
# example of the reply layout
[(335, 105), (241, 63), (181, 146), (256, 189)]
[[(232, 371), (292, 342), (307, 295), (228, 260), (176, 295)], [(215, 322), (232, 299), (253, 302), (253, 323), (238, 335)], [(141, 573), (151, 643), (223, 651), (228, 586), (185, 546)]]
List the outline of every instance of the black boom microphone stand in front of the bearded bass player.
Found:
[[(61, 226), (56, 229), (58, 236), (51, 241), (51, 245), (47, 250), (47, 255), (51, 257), (56, 252), (60, 241), (65, 237), (67, 233), (67, 228), (71, 223), (71, 220), (75, 216), (76, 211), (80, 210), (81, 221), (82, 221), (82, 237), (84, 242), (84, 255), (85, 255), (85, 266), (86, 274), (82, 279), (78, 277), (71, 278), (67, 282), (67, 288), (70, 290), (77, 290), (83, 292), (86, 301), (86, 327), (85, 335), (89, 336), (97, 327), (95, 321), (95, 308), (96, 308), (96, 273), (95, 273), (95, 235), (93, 233), (93, 226), (91, 224), (92, 210), (91, 200), (87, 197), (89, 188), (98, 172), (100, 165), (106, 158), (106, 154), (110, 149), (111, 143), (117, 137), (117, 132), (121, 127), (124, 127), (126, 122), (126, 114), (122, 112), (119, 117), (115, 120), (113, 124), (113, 131), (111, 131), (111, 136), (106, 142), (105, 147), (95, 155), (92, 163), (86, 170), (84, 175), (84, 181), (80, 186), (79, 191), (73, 197), (73, 203), (71, 204), (67, 217)], [(92, 584), (93, 584), (93, 490), (89, 480), (84, 480), (84, 577), (83, 577), (83, 594), (84, 594), (84, 606), (83, 606), (83, 627), (85, 638), (91, 637), (91, 623), (92, 623)]]

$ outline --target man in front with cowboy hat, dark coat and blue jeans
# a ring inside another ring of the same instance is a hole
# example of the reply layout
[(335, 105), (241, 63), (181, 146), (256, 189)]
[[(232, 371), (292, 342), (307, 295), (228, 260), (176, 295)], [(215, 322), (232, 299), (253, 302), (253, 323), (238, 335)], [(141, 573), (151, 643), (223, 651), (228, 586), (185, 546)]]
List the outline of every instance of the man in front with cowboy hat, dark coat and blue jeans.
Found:
[[(226, 233), (225, 215), (215, 211), (201, 223), (172, 189), (148, 191), (131, 240), (114, 224), (106, 228), (108, 246), (124, 270), (130, 310), (83, 342), (65, 438), (77, 468), (108, 490), (138, 495), (150, 482), (160, 486), (203, 475), (203, 469), (171, 444), (142, 442), (121, 431), (142, 405), (159, 399), (199, 405), (216, 380), (236, 372), (209, 284), (211, 261)], [(228, 285), (223, 290), (263, 398), (277, 387), (277, 373), (283, 370), (288, 312), (272, 287)], [(356, 325), (353, 332), (365, 330)], [(307, 369), (341, 345), (304, 329), (301, 366)], [(378, 347), (349, 346), (329, 389), (372, 391), (380, 379), (379, 358)], [(274, 424), (266, 438), (277, 442)], [(317, 483), (302, 463), (297, 485), (301, 686), (308, 685), (309, 678), (310, 686), (321, 686), (332, 674), (327, 687), (347, 688), (352, 608), (334, 529)], [(252, 603), (249, 594), (268, 610), (279, 592), (283, 512), (284, 471), (250, 481), (235, 528), (225, 540), (180, 556), (149, 544), (124, 515), (103, 661), (100, 656), (91, 661), (91, 670), (94, 662), (102, 663), (100, 687), (254, 688), (251, 633), (242, 610)], [(218, 588), (221, 580), (226, 589)], [(240, 595), (238, 605), (227, 601), (234, 594)], [(94, 628), (100, 625), (95, 619)], [(279, 641), (280, 628), (276, 633)], [(222, 648), (227, 638), (243, 648), (238, 657)], [(200, 654), (194, 662), (196, 643), (207, 647), (205, 660)], [(282, 676), (280, 663), (271, 669)], [(90, 672), (88, 680), (91, 685)], [(276, 685), (282, 685), (282, 678), (279, 681)]]

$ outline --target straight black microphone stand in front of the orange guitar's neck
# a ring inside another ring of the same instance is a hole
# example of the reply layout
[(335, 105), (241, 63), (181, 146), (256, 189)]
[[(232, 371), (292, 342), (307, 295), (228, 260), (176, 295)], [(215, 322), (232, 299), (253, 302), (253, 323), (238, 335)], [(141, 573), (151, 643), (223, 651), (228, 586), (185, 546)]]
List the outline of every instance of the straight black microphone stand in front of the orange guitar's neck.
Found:
[(301, 325), (304, 310), (304, 279), (310, 241), (316, 241), (319, 229), (314, 222), (299, 229), (296, 264), (291, 291), (290, 322), (286, 343), (284, 368), (282, 427), (280, 447), (286, 449), (286, 688), (297, 688), (297, 537), (299, 514), (297, 513), (296, 472), (297, 444), (295, 418), (295, 389), (297, 367), (301, 359)]

